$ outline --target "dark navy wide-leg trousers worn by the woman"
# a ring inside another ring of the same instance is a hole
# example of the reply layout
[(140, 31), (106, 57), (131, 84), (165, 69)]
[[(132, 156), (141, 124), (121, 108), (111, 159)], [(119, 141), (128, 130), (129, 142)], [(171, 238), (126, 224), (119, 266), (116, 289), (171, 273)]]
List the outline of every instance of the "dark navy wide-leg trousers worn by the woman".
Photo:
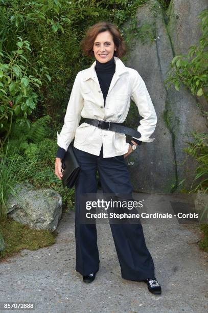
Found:
[[(103, 193), (131, 194), (130, 174), (123, 155), (103, 158), (103, 148), (97, 155), (79, 150), (74, 152), (81, 167), (75, 188), (75, 238), (76, 271), (85, 276), (99, 270), (96, 224), (80, 223), (80, 195), (97, 193), (96, 172), (98, 169)], [(128, 158), (128, 157), (127, 157)], [(145, 243), (141, 223), (110, 223), (117, 251), (121, 276), (124, 279), (141, 281), (154, 276), (154, 263)]]

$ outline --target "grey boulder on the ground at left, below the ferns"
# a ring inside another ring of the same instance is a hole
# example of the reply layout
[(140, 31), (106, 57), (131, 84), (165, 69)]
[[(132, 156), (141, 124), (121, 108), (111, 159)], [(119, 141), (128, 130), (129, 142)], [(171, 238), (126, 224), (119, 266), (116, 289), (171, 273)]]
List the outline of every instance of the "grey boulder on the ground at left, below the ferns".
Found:
[(62, 197), (53, 189), (16, 184), (16, 195), (8, 199), (8, 216), (32, 229), (54, 231), (62, 212)]

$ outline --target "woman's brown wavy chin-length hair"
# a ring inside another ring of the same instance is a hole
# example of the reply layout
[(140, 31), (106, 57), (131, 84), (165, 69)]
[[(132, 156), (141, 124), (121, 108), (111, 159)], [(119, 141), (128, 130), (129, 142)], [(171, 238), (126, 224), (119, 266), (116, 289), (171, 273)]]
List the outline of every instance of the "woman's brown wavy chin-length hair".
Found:
[(117, 50), (114, 51), (113, 56), (121, 58), (126, 54), (126, 45), (118, 27), (106, 21), (100, 21), (99, 23), (94, 24), (88, 29), (85, 37), (80, 42), (80, 47), (84, 52), (84, 55), (89, 57), (95, 57), (93, 51), (95, 39), (99, 33), (105, 31), (109, 31), (111, 33), (113, 42), (117, 47)]

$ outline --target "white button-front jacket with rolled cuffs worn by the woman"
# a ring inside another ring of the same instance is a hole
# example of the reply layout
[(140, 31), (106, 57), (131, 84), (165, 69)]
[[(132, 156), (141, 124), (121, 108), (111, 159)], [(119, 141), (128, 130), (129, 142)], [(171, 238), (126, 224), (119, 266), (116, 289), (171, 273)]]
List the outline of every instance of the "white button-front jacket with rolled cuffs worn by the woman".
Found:
[(99, 155), (103, 144), (103, 157), (115, 157), (128, 151), (126, 135), (110, 130), (102, 130), (96, 126), (82, 123), (81, 116), (104, 120), (107, 122), (124, 122), (132, 99), (138, 113), (143, 117), (137, 130), (143, 142), (152, 142), (150, 138), (155, 130), (157, 116), (146, 85), (140, 74), (127, 68), (120, 58), (114, 56), (115, 73), (112, 77), (105, 101), (95, 71), (96, 60), (87, 69), (77, 73), (68, 101), (64, 125), (60, 134), (57, 131), (57, 144), (67, 150), (74, 140), (77, 149)]

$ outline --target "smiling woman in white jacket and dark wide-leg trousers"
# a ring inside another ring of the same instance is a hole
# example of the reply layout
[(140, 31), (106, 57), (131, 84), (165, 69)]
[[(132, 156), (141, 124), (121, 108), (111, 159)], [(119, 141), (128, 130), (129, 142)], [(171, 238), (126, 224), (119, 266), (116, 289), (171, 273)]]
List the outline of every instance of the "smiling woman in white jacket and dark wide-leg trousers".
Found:
[[(90, 27), (81, 42), (84, 54), (95, 57), (90, 68), (78, 72), (58, 137), (55, 174), (62, 179), (61, 159), (74, 140), (74, 151), (81, 167), (76, 183), (76, 270), (84, 282), (92, 282), (99, 270), (96, 224), (80, 222), (80, 195), (97, 193), (98, 169), (103, 193), (131, 194), (125, 158), (142, 142), (152, 142), (157, 117), (142, 77), (121, 61), (125, 43), (111, 23), (99, 22)], [(126, 142), (124, 133), (109, 130), (110, 123), (123, 123), (130, 98), (143, 117), (137, 131), (140, 138)], [(85, 122), (79, 125), (81, 117)], [(90, 124), (93, 119), (97, 124)], [(104, 121), (104, 122), (103, 122)], [(107, 124), (101, 127), (101, 124)], [(139, 139), (139, 140), (138, 140)], [(154, 276), (154, 263), (146, 247), (141, 224), (110, 224), (124, 279), (145, 281), (153, 294), (161, 287)], [(128, 239), (128, 240), (127, 240)]]

